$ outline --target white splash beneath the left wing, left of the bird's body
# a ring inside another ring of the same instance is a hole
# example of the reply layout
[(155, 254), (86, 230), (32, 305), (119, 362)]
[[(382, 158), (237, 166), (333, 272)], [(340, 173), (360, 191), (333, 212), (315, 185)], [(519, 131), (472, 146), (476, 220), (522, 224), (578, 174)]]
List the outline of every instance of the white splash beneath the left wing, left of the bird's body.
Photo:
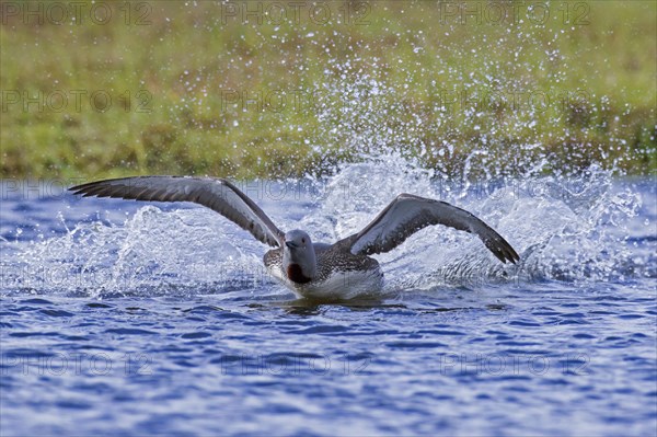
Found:
[(103, 297), (257, 287), (265, 280), (257, 243), (217, 218), (146, 206), (124, 223), (80, 222), (62, 237), (20, 244), (3, 288)]

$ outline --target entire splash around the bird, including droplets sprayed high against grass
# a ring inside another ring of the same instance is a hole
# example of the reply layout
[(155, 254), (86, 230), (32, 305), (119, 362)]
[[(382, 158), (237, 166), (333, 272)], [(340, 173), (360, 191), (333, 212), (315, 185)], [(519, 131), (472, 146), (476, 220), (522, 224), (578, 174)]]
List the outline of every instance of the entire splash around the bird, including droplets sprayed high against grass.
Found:
[[(472, 235), (433, 227), (378, 256), (389, 290), (655, 276), (655, 255), (631, 246), (629, 223), (642, 197), (614, 185), (622, 172), (595, 163), (584, 171), (555, 170), (552, 152), (535, 141), (509, 143), (489, 136), (474, 146), (459, 142), (450, 137), (450, 115), (440, 107), (417, 106), (411, 91), (407, 99), (392, 99), (403, 93), (387, 92), (391, 84), (377, 65), (333, 67), (318, 87), (320, 123), (312, 133), (322, 138), (314, 152), (325, 159), (315, 173), (324, 176), (308, 175), (312, 189), (303, 196), (264, 198), (265, 210), (283, 229), (301, 227), (315, 241), (335, 241), (408, 192), (471, 210), (516, 248), (521, 262), (502, 265)], [(476, 108), (471, 110), (465, 112), (475, 119)], [(525, 123), (528, 114), (517, 115), (514, 123)], [(441, 143), (431, 139), (435, 131), (446, 134)], [(291, 214), (290, 204), (300, 202), (308, 207)], [(285, 292), (270, 286), (260, 243), (203, 209), (147, 206), (123, 223), (81, 222), (62, 237), (2, 244), (18, 253), (3, 274), (3, 290)]]

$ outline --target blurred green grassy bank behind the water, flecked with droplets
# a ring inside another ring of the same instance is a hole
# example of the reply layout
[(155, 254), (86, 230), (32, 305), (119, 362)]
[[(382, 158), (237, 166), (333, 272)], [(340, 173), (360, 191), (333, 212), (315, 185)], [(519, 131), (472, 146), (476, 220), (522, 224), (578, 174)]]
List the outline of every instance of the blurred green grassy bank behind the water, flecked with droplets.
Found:
[(49, 4), (2, 4), (3, 177), (657, 169), (652, 1)]

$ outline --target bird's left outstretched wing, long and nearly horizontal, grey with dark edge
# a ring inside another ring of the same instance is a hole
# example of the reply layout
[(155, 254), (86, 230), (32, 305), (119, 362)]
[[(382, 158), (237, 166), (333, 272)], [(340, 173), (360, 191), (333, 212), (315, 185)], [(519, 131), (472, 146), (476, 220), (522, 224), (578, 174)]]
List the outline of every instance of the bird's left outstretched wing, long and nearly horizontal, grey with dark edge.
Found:
[(97, 181), (69, 188), (74, 194), (137, 200), (193, 202), (206, 206), (258, 241), (283, 245), (285, 234), (269, 217), (229, 181), (212, 177), (137, 176)]

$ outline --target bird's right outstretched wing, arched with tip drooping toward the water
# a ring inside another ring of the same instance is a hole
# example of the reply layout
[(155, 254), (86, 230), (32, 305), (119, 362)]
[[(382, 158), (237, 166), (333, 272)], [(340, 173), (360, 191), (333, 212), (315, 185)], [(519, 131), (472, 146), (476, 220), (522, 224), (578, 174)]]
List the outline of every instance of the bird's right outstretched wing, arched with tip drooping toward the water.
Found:
[(400, 194), (364, 230), (339, 244), (346, 244), (355, 255), (384, 253), (429, 225), (445, 225), (479, 235), (503, 263), (510, 261), (515, 264), (520, 260), (499, 233), (472, 214), (446, 202), (412, 194)]

